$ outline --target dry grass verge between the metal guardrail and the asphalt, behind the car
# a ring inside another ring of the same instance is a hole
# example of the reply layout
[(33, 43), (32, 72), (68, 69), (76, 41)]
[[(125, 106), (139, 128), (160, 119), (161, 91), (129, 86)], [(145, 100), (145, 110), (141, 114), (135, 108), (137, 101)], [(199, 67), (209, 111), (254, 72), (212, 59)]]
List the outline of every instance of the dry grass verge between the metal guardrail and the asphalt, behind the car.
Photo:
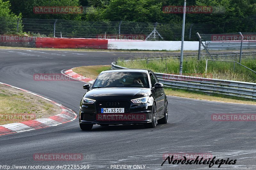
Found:
[[(111, 69), (111, 65), (82, 66), (73, 69), (73, 71), (85, 77), (95, 79), (101, 71), (108, 69)], [(196, 92), (168, 87), (164, 87), (164, 92), (166, 93), (166, 95), (169, 96), (185, 97), (190, 99), (256, 105), (256, 101), (227, 95), (206, 94), (204, 92)]]

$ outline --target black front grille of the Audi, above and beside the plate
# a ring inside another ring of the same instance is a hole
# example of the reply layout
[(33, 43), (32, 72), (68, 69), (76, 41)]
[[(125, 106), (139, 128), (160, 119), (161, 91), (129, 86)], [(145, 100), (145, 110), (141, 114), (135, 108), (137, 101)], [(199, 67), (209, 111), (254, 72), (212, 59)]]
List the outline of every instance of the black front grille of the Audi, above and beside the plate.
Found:
[(124, 113), (129, 113), (131, 102), (128, 100), (100, 100), (96, 104), (97, 113), (101, 113), (101, 108), (124, 108)]

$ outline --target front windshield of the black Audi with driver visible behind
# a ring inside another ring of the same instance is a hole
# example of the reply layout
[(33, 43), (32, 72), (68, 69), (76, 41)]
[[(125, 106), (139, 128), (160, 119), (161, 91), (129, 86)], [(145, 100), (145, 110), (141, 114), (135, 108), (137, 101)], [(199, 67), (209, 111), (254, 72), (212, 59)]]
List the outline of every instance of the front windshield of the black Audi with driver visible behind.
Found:
[(102, 87), (145, 87), (149, 88), (148, 74), (142, 72), (100, 73), (92, 88)]

